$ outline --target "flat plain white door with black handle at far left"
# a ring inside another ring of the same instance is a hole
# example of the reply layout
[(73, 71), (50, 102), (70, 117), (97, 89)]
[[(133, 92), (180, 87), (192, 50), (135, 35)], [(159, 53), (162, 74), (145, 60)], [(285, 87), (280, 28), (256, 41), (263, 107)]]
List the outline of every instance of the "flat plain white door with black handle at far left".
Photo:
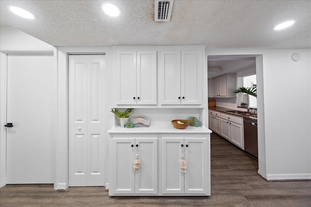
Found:
[(53, 55), (7, 56), (6, 183), (54, 183)]

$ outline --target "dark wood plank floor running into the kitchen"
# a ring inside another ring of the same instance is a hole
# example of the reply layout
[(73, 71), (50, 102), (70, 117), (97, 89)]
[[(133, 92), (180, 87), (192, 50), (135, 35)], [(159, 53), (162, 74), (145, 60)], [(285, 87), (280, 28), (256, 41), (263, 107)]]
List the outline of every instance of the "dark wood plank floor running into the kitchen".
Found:
[(216, 134), (211, 136), (211, 196), (109, 197), (104, 187), (7, 185), (0, 188), (1, 207), (311, 207), (311, 181), (266, 182), (258, 162)]

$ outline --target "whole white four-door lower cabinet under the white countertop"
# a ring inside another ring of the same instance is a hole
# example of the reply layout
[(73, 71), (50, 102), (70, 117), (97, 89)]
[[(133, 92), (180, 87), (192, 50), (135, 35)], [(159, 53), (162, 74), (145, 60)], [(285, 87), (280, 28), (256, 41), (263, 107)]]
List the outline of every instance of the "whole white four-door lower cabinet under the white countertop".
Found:
[[(110, 196), (210, 195), (209, 135), (156, 138), (128, 134), (110, 139)], [(187, 163), (181, 171), (182, 155)], [(140, 168), (134, 172), (138, 156)]]

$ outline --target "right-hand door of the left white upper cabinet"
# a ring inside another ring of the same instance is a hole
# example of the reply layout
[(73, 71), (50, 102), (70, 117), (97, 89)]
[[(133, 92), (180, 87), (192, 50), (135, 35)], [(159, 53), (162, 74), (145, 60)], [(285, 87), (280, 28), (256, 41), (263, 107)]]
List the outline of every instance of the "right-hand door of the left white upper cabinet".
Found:
[(156, 105), (156, 51), (137, 51), (137, 105)]

